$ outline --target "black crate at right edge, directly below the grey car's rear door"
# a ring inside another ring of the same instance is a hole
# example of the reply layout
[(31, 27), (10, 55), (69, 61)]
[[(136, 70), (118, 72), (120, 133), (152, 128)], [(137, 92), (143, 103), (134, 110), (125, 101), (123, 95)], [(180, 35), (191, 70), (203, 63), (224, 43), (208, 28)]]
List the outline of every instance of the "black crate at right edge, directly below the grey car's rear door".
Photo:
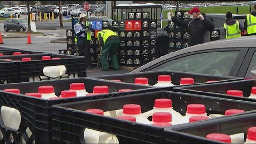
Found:
[[(179, 88), (175, 88), (175, 91), (179, 92), (189, 92), (195, 94), (208, 95), (213, 97), (221, 97), (228, 99), (236, 99), (236, 100), (245, 100), (256, 102), (256, 99), (247, 98), (251, 94), (251, 88), (256, 86), (256, 80), (240, 80), (234, 82), (223, 82), (216, 84), (200, 84), (194, 86), (182, 86)], [(228, 90), (240, 90), (243, 92), (244, 97), (235, 97), (226, 95)]]

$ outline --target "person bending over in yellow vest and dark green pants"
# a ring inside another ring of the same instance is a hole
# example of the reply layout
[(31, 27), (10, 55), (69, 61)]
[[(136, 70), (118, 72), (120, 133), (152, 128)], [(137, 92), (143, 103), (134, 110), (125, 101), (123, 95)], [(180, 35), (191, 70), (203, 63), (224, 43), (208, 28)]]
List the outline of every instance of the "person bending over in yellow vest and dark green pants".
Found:
[(100, 53), (100, 60), (103, 71), (108, 71), (108, 60), (107, 55), (112, 61), (112, 66), (114, 70), (119, 70), (119, 63), (117, 58), (117, 49), (120, 44), (119, 36), (109, 29), (101, 30), (97, 33), (98, 41), (102, 45), (102, 50)]

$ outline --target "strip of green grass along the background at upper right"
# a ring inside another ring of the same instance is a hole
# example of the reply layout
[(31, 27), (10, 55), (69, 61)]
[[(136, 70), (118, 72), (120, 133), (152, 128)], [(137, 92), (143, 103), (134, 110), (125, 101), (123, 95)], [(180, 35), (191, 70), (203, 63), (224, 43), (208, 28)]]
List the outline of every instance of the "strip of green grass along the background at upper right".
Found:
[[(180, 10), (191, 10), (191, 8), (184, 8), (184, 9), (180, 9)], [(236, 6), (212, 6), (212, 7), (201, 7), (200, 8), (202, 13), (223, 13), (226, 14), (228, 11), (232, 12), (233, 10), (233, 14), (236, 14)], [(175, 10), (172, 10), (173, 12), (175, 12)], [(252, 11), (253, 11), (253, 7), (252, 7)], [(164, 10), (163, 14), (164, 14), (164, 19), (167, 19), (167, 13), (170, 12), (170, 10)], [(249, 13), (249, 6), (238, 6), (238, 14), (248, 14)]]

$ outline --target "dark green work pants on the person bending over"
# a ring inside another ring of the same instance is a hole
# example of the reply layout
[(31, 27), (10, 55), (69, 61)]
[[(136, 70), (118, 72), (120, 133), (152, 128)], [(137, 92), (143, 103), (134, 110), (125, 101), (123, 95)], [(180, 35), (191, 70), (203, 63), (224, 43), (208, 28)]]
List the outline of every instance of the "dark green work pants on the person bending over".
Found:
[(117, 58), (117, 49), (119, 46), (120, 40), (109, 40), (102, 47), (100, 60), (101, 65), (104, 70), (108, 70), (108, 60), (107, 55), (109, 53), (109, 57), (112, 61), (112, 66), (115, 70), (119, 70), (118, 58)]

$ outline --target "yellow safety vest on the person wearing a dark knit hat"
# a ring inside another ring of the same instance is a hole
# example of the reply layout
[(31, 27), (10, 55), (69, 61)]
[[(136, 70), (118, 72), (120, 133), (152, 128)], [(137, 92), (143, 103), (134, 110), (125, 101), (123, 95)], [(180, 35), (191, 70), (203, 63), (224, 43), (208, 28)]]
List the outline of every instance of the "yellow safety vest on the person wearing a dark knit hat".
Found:
[(239, 29), (238, 21), (233, 25), (227, 25), (224, 23), (224, 28), (226, 29), (226, 38), (241, 37), (241, 30)]

